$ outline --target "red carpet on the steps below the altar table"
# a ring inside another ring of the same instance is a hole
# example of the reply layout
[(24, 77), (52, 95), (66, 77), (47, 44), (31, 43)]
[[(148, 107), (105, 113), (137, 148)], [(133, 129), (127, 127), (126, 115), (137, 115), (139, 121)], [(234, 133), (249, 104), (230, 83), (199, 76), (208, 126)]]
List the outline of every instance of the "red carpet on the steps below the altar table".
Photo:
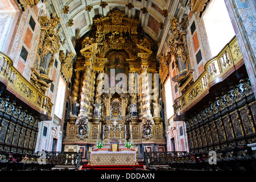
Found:
[(143, 165), (134, 165), (134, 166), (126, 166), (126, 165), (108, 165), (108, 166), (87, 166), (84, 164), (82, 166), (83, 169), (92, 169), (92, 170), (136, 170), (136, 168), (143, 169)]

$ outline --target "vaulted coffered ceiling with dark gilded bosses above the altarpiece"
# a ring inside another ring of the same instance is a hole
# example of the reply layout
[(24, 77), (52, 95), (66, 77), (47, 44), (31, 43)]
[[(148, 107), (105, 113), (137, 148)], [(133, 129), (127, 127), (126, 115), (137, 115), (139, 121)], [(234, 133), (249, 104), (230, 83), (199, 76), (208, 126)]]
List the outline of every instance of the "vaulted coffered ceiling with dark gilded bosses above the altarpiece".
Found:
[[(123, 11), (128, 18), (141, 20), (144, 31), (164, 45), (169, 32), (170, 19), (184, 13), (185, 3), (188, 0), (59, 0), (51, 1), (53, 13), (60, 17), (62, 27), (62, 39), (75, 46), (80, 39), (92, 27), (95, 16), (106, 16), (113, 8)], [(106, 6), (104, 6), (106, 5)], [(65, 6), (68, 8), (64, 12)], [(68, 25), (72, 21), (72, 26)], [(70, 46), (69, 46), (70, 47)], [(73, 48), (71, 48), (73, 49)]]

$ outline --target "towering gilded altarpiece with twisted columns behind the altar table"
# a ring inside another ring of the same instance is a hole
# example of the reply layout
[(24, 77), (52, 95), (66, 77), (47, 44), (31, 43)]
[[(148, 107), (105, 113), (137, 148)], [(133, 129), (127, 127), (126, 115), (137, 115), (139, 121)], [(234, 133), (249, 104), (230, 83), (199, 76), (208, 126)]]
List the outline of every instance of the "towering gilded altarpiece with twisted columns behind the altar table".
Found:
[(78, 144), (87, 152), (89, 147), (96, 150), (98, 141), (108, 147), (110, 139), (118, 138), (122, 145), (139, 146), (142, 159), (143, 145), (166, 145), (155, 84), (156, 42), (144, 34), (139, 20), (117, 9), (93, 22), (77, 53), (63, 144)]

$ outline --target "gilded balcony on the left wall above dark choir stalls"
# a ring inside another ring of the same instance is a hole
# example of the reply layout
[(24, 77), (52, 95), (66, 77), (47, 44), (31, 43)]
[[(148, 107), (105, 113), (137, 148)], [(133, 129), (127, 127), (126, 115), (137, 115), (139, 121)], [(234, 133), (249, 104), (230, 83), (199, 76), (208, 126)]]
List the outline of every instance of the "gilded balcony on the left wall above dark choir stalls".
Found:
[[(44, 96), (19, 71), (5, 53), (0, 52), (1, 94), (18, 102), (24, 109), (37, 115), (42, 120), (51, 120), (52, 106), (49, 97)], [(18, 98), (18, 99), (17, 99)]]

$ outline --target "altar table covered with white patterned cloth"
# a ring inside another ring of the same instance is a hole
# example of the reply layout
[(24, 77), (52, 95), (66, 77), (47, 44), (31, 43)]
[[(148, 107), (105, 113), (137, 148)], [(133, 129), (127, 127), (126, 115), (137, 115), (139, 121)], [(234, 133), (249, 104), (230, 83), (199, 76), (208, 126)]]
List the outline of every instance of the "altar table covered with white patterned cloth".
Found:
[(90, 165), (104, 166), (104, 165), (135, 165), (136, 152), (135, 151), (92, 151), (90, 153)]

